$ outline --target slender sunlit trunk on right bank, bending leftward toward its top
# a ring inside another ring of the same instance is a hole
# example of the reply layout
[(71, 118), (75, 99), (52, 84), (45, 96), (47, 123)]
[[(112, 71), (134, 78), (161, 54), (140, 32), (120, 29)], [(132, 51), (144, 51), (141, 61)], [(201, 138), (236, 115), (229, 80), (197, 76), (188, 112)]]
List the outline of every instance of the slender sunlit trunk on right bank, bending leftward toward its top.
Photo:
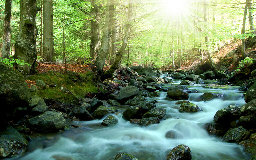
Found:
[[(205, 23), (205, 25), (207, 24), (206, 1), (204, 1), (204, 23)], [(208, 49), (207, 55), (208, 55), (208, 59), (210, 61), (211, 68), (214, 70), (216, 68), (216, 66), (215, 66), (215, 63), (212, 58), (212, 50), (211, 50), (211, 46), (209, 44), (209, 37), (208, 37), (208, 33), (207, 33), (206, 29), (205, 29), (205, 45), (206, 45), (206, 48)]]

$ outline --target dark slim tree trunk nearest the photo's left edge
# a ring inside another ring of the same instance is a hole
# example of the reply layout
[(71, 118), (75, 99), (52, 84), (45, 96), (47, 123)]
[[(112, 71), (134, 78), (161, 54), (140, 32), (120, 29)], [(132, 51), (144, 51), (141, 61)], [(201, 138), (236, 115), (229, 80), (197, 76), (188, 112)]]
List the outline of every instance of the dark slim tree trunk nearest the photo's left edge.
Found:
[(11, 12), (12, 0), (5, 0), (4, 8), (4, 41), (1, 57), (9, 58), (10, 56), (10, 38), (11, 38)]

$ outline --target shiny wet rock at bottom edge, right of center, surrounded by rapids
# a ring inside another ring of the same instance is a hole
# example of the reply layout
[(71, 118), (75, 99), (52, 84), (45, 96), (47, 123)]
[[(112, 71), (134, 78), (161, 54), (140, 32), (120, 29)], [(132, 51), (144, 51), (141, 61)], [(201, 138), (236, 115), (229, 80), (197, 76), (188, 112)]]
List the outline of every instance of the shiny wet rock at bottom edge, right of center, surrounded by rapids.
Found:
[(167, 155), (167, 160), (191, 160), (190, 148), (184, 144), (174, 147)]

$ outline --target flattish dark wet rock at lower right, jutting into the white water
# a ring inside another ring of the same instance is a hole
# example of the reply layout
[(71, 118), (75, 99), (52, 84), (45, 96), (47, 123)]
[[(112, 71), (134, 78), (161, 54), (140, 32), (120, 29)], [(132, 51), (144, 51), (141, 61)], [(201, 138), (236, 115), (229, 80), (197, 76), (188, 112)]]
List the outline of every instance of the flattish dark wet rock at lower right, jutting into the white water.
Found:
[(244, 129), (242, 126), (237, 128), (231, 128), (222, 137), (224, 142), (240, 142), (249, 136), (250, 132)]

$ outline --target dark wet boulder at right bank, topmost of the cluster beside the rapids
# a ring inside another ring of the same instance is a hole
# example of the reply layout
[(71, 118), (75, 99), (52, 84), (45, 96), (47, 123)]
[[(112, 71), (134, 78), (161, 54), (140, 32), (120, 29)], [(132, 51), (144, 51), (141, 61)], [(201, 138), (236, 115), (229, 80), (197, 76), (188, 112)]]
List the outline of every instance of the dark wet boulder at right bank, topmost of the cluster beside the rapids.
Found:
[(214, 115), (214, 121), (216, 123), (230, 123), (241, 116), (240, 107), (227, 106), (226, 108), (218, 110)]

